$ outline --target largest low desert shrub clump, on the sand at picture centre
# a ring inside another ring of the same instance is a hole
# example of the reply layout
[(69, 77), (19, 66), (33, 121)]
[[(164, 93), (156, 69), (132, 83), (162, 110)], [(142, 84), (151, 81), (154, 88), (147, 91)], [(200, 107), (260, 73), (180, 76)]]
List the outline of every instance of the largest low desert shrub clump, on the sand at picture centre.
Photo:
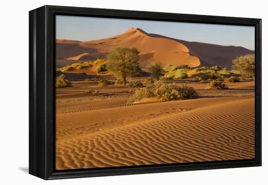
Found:
[(192, 87), (186, 85), (177, 87), (174, 83), (165, 84), (163, 81), (156, 81), (145, 88), (136, 89), (130, 97), (129, 103), (150, 97), (157, 97), (162, 101), (171, 101), (195, 98), (198, 97), (198, 93)]

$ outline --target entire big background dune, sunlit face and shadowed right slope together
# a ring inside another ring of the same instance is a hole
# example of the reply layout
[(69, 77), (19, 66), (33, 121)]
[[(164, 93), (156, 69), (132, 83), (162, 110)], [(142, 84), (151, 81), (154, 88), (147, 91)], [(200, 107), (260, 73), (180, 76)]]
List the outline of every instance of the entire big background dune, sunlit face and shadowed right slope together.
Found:
[[(179, 36), (178, 36), (179, 37)], [(140, 64), (146, 67), (150, 60), (162, 66), (189, 65), (230, 67), (236, 56), (254, 53), (243, 47), (221, 46), (201, 42), (189, 42), (157, 34), (149, 34), (139, 28), (99, 40), (76, 41), (57, 39), (57, 59), (94, 60), (106, 58), (115, 47), (136, 47), (140, 51)]]

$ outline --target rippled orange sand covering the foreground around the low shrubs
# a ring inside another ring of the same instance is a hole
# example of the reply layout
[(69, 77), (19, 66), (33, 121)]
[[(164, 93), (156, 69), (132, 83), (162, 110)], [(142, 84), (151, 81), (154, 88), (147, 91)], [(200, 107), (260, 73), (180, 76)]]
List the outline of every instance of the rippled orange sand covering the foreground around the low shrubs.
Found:
[(74, 81), (57, 88), (56, 168), (254, 158), (254, 82), (228, 83), (229, 90), (176, 83), (201, 97), (128, 105), (127, 86)]

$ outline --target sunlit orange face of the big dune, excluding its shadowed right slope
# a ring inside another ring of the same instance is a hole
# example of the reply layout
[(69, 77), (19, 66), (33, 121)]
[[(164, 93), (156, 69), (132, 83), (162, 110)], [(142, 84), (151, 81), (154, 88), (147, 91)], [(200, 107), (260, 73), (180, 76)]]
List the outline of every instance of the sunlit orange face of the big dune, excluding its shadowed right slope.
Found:
[[(126, 32), (100, 40), (85, 42), (57, 41), (57, 59), (79, 60), (105, 58), (115, 47), (136, 47), (140, 52), (140, 64), (147, 67), (152, 60), (162, 66), (200, 65), (198, 57), (191, 56), (189, 49), (182, 43), (164, 37), (151, 37), (140, 28), (131, 28)], [(89, 54), (90, 53), (90, 54)]]

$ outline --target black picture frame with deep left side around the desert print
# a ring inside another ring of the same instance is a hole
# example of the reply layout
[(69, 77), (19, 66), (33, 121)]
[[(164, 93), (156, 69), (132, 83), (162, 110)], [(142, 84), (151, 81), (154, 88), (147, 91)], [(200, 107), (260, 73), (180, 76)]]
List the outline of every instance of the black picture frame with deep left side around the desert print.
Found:
[[(55, 170), (55, 16), (161, 20), (255, 27), (255, 159)], [(45, 5), (29, 12), (29, 173), (65, 179), (261, 166), (261, 19)]]

